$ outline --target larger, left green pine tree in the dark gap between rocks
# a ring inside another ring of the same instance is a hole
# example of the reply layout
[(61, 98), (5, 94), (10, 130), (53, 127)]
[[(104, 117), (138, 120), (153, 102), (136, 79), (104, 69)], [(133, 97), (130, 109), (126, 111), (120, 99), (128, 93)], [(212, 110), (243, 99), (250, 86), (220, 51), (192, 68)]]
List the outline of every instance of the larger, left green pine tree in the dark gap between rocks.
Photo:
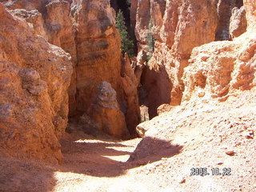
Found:
[(130, 58), (134, 57), (134, 42), (130, 39), (127, 32), (125, 18), (122, 14), (122, 10), (118, 10), (116, 17), (116, 28), (119, 30), (121, 37), (121, 50), (122, 54), (127, 53)]

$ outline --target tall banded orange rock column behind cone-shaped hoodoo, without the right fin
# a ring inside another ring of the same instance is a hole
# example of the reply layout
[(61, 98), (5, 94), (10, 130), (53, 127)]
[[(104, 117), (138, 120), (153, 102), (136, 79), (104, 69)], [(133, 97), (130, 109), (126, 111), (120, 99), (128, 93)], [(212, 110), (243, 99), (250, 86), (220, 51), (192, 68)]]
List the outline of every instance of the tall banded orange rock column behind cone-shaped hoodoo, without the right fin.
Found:
[(122, 97), (121, 52), (114, 13), (109, 1), (82, 1), (77, 14), (77, 110), (86, 112), (96, 102), (97, 87), (110, 82)]

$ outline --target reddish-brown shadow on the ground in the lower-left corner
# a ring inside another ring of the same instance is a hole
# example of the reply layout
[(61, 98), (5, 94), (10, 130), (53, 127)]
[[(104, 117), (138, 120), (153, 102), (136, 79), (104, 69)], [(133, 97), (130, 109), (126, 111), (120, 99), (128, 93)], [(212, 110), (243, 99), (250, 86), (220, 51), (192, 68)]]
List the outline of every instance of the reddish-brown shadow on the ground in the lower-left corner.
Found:
[(54, 169), (42, 162), (11, 158), (0, 151), (0, 192), (48, 192), (54, 189)]

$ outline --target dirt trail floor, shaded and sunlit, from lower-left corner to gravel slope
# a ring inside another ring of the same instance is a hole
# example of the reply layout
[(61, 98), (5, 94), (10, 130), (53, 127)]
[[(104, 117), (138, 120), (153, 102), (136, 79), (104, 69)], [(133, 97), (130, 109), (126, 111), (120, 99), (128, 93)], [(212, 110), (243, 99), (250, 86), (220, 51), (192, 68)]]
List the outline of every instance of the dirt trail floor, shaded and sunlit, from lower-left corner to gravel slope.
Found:
[[(145, 174), (142, 167), (161, 160), (164, 154), (127, 162), (141, 140), (94, 138), (82, 131), (66, 134), (61, 141), (64, 162), (59, 166), (18, 160), (2, 154), (0, 191), (163, 191), (169, 185), (168, 181), (162, 185), (162, 178)], [(163, 145), (164, 149), (166, 143), (154, 141), (154, 145)], [(166, 149), (170, 150), (170, 147), (166, 146)], [(176, 150), (170, 151), (167, 156), (176, 154)]]

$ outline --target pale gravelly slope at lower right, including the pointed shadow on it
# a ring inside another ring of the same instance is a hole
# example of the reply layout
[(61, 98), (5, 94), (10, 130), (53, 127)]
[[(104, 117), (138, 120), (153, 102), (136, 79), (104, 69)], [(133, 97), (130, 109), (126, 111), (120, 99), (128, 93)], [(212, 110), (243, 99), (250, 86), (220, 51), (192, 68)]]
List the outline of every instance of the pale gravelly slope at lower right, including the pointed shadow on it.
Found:
[[(130, 162), (146, 166), (134, 174), (154, 175), (160, 191), (254, 191), (255, 93), (244, 90), (226, 102), (192, 99), (144, 122), (149, 130)], [(209, 175), (190, 175), (204, 167)], [(230, 168), (231, 175), (212, 175), (212, 168)]]

